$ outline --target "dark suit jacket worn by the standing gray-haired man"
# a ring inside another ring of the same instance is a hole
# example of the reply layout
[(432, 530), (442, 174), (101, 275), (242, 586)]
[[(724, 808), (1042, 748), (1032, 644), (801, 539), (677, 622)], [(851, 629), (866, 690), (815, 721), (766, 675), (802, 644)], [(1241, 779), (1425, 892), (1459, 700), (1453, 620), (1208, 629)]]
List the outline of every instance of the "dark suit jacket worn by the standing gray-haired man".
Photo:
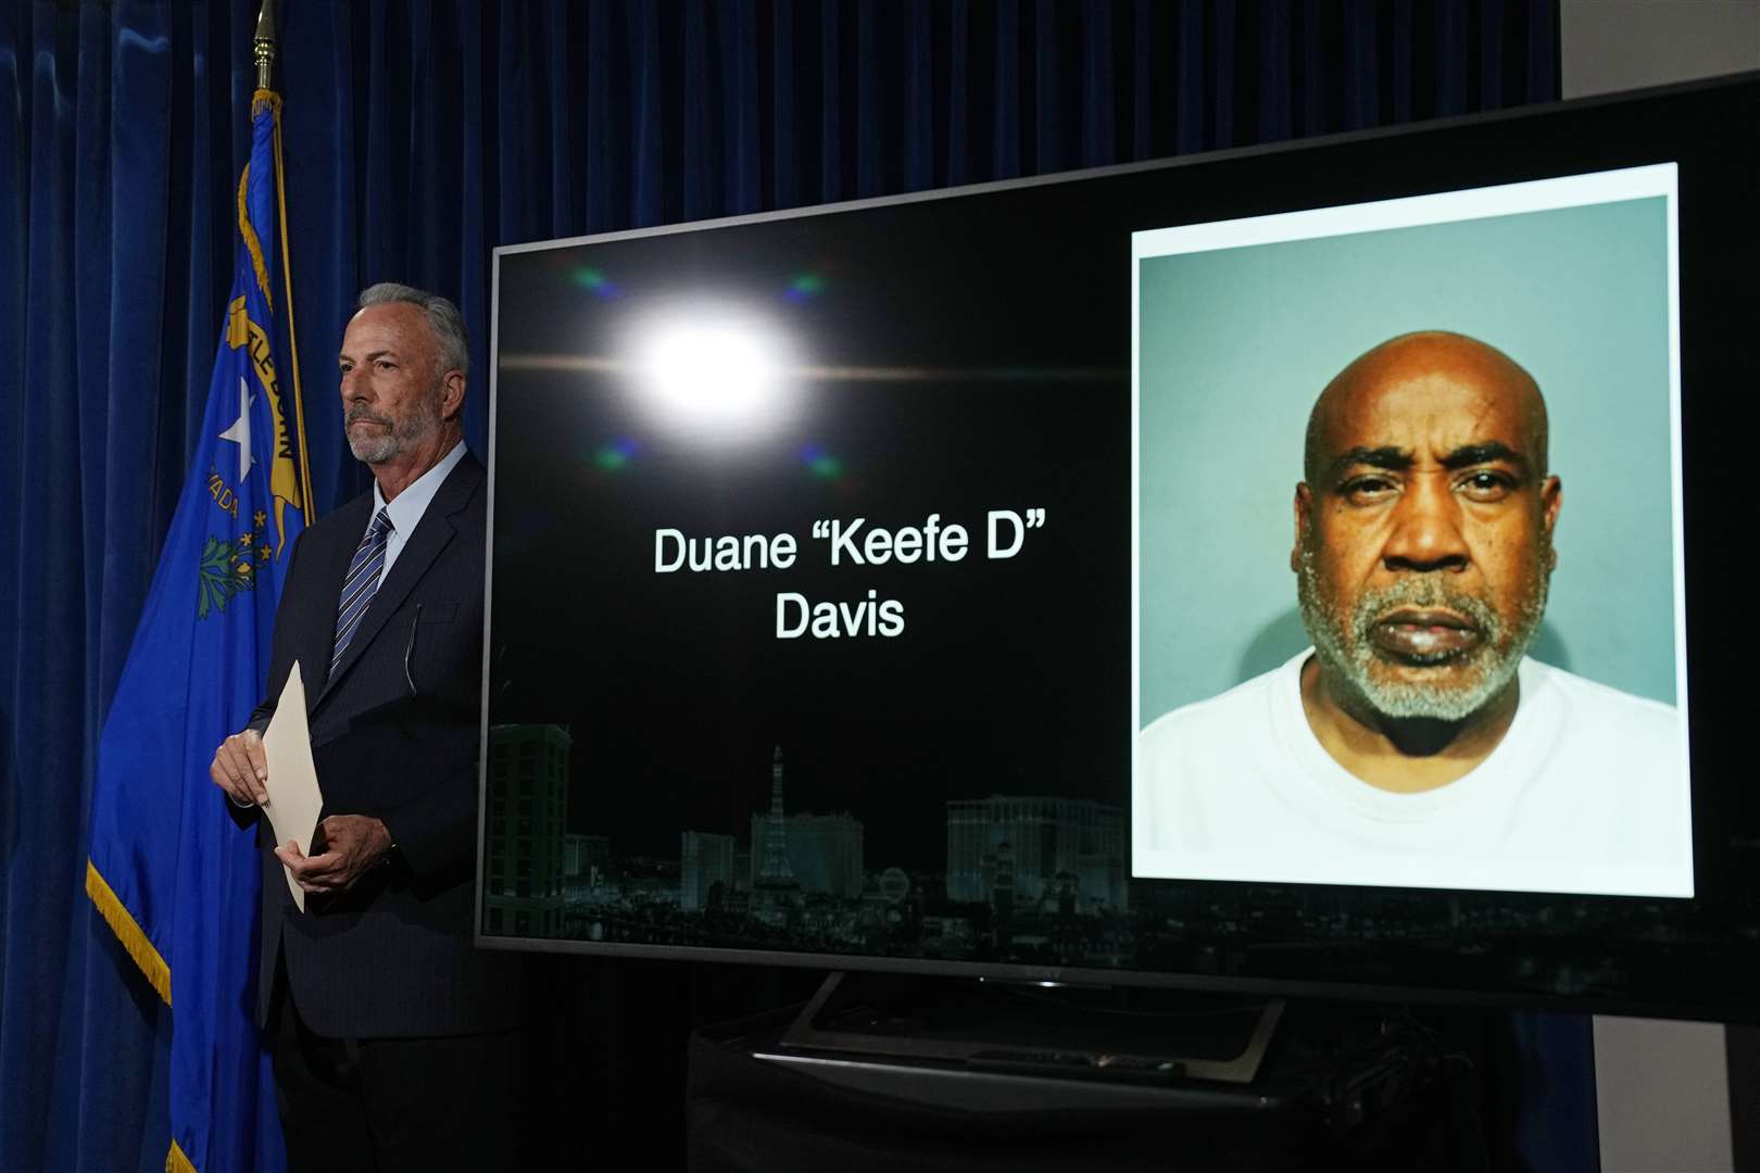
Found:
[(262, 823), (262, 1025), (276, 960), (320, 1036), (466, 1034), (517, 1018), (514, 957), (470, 943), (484, 480), (466, 454), (405, 540), (334, 674), (338, 593), (373, 494), (319, 521), (294, 547), (275, 616), (269, 700), (252, 726), (269, 723), (297, 659), (324, 814), (377, 816), (398, 851), (341, 895), (308, 895), (301, 913)]

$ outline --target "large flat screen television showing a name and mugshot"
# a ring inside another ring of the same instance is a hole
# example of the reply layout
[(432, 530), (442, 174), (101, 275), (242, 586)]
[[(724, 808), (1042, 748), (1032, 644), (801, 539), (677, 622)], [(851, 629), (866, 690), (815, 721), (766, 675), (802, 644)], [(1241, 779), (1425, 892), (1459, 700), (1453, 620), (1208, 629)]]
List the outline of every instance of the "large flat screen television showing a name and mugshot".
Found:
[(1756, 114), (496, 250), (479, 941), (1755, 1020)]

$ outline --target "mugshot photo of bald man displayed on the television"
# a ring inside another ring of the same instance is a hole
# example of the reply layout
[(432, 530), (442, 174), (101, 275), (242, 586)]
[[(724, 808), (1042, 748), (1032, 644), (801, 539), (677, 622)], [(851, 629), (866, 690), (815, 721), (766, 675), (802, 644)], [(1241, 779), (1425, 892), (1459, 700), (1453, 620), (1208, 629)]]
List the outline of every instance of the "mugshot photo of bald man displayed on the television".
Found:
[(1133, 236), (1135, 876), (1693, 893), (1676, 199)]

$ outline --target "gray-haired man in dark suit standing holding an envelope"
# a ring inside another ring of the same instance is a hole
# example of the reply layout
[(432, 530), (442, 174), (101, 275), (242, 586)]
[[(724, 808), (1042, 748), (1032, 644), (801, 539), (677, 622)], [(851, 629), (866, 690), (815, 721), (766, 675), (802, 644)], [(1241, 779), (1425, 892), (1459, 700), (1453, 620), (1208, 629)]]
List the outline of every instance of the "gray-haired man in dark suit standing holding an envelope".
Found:
[(268, 700), (209, 770), (257, 821), (275, 784), (260, 732), (297, 661), (324, 818), (306, 851), (260, 821), (257, 994), (296, 1169), (510, 1157), (517, 969), (470, 939), (488, 508), (463, 445), (468, 366), (452, 302), (361, 294), (341, 403), (375, 484), (301, 535)]

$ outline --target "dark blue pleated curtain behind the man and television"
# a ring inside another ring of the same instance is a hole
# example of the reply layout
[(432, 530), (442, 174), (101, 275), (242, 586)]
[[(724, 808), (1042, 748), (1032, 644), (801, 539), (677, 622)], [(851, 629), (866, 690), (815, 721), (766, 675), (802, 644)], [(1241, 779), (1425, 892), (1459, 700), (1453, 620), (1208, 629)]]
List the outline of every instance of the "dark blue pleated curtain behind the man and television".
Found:
[[(366, 283), (454, 295), (482, 355), (495, 244), (1558, 97), (1556, 9), (1519, 0), (282, 7), (319, 514), (366, 487), (333, 408), (334, 346)], [(197, 443), (253, 26), (253, 0), (0, 5), (5, 1169), (165, 1155), (169, 1015), (81, 879), (97, 732)], [(479, 448), (484, 385), (466, 412)], [(700, 1004), (686, 987), (709, 980), (591, 973), (572, 1022), (597, 1064), (635, 1046), (614, 1018), (683, 1022), (672, 999)], [(1512, 1032), (1524, 1159), (1595, 1168), (1586, 1020), (1517, 1015)], [(683, 1045), (681, 1027), (658, 1038)]]

